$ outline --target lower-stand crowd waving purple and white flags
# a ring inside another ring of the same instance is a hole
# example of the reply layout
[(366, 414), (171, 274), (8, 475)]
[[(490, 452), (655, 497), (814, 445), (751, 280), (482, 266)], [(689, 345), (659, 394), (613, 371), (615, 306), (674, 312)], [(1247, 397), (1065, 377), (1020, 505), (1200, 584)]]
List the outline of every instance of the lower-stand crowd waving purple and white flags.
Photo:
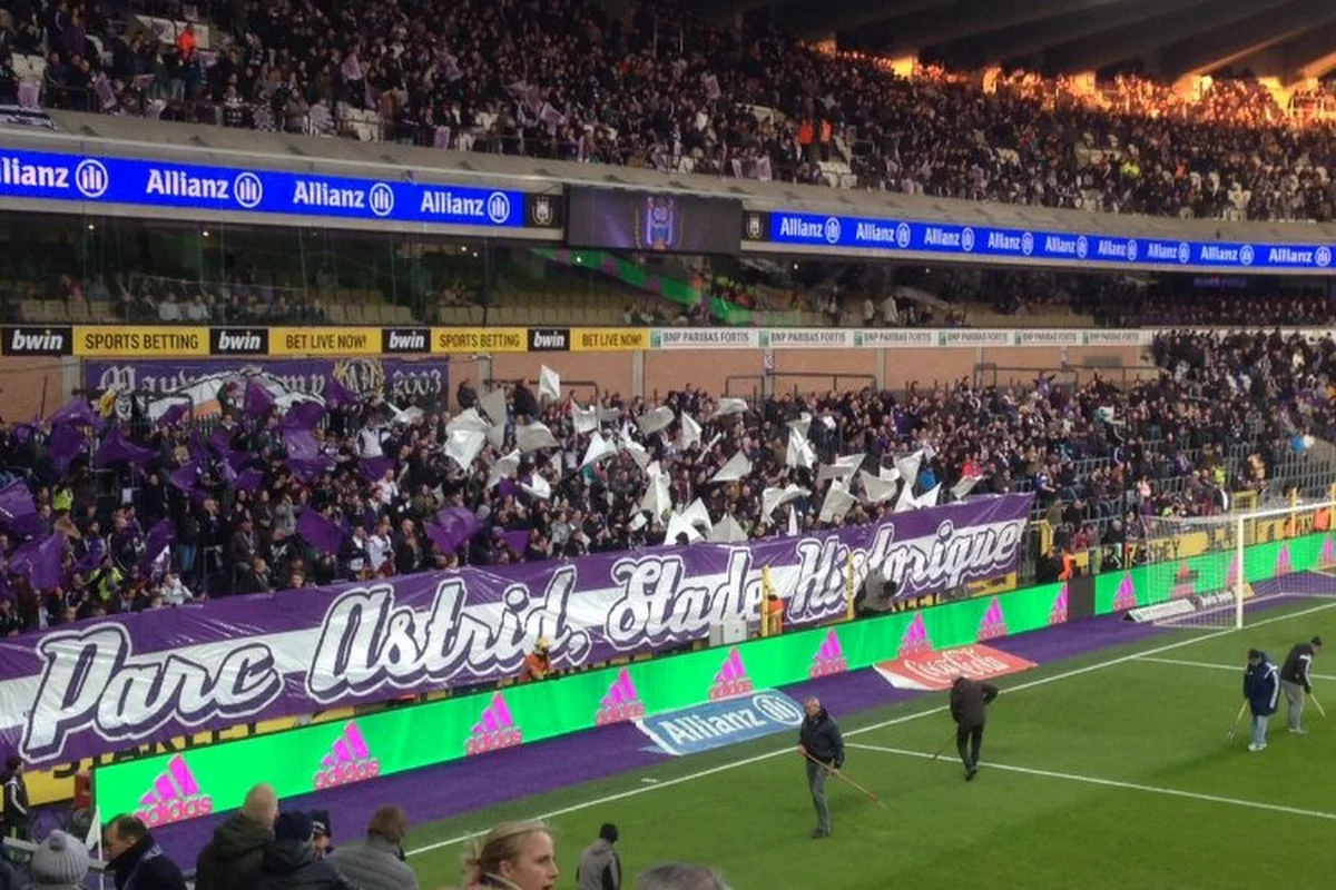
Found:
[[(206, 595), (681, 543), (681, 532), (667, 540), (672, 511), (697, 499), (713, 526), (787, 534), (787, 508), (762, 512), (766, 488), (799, 488), (792, 522), (804, 531), (872, 522), (895, 504), (859, 496), (820, 518), (830, 480), (819, 470), (850, 454), (874, 474), (916, 455), (906, 471), (915, 495), (962, 482), (974, 494), (1033, 490), (1061, 544), (1113, 548), (1141, 515), (1208, 514), (1221, 491), (1265, 487), (1268, 466), (1331, 424), (1331, 339), (1184, 332), (1153, 354), (1158, 378), (1126, 387), (1096, 378), (1073, 391), (1045, 375), (1030, 387), (962, 380), (752, 404), (695, 387), (657, 403), (607, 394), (580, 404), (560, 390), (540, 399), (528, 382), (500, 403), (465, 379), (454, 415), (441, 399), (391, 406), (342, 386), (323, 407), (279, 410), (258, 378), (235, 379), (211, 432), (182, 411), (150, 423), (140, 406), (106, 422), (76, 400), (0, 435), (11, 480), (0, 632)], [(795, 423), (807, 426), (807, 459), (790, 442)], [(1238, 450), (1256, 459), (1232, 460)], [(748, 466), (713, 480), (737, 456)]]

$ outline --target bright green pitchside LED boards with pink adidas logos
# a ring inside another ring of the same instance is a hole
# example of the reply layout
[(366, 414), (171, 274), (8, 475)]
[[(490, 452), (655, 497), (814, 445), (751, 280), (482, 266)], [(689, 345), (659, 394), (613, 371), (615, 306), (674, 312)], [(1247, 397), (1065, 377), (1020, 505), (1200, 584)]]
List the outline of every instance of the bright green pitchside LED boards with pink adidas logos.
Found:
[[(1255, 544), (1245, 560), (1256, 583), (1336, 562), (1336, 547), (1331, 534), (1313, 534)], [(1184, 560), (1197, 572), (1196, 590), (1218, 590), (1229, 562), (1229, 554)], [(309, 794), (1185, 595), (1156, 584), (1153, 571), (1041, 584), (112, 763), (94, 774), (95, 799), (107, 815), (134, 811), (150, 826), (179, 822), (240, 806), (257, 782), (273, 783), (279, 797)], [(194, 791), (144, 803), (155, 787), (183, 783)]]

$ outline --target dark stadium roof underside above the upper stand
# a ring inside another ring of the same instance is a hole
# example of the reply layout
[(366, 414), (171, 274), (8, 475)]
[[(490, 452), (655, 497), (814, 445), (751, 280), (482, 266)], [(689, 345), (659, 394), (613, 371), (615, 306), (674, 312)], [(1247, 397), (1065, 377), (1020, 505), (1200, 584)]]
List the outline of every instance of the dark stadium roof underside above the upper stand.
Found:
[[(733, 13), (763, 0), (711, 0)], [(953, 67), (1098, 71), (1140, 61), (1176, 79), (1226, 65), (1287, 83), (1336, 69), (1332, 0), (787, 0), (775, 15), (842, 49), (918, 51)]]

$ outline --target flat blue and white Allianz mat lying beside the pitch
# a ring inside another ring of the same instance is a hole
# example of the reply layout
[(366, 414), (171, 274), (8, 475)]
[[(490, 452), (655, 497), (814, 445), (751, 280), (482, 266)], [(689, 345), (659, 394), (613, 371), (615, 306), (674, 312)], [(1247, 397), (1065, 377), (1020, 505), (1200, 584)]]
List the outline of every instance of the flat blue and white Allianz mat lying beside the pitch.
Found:
[(685, 757), (796, 730), (803, 709), (775, 690), (749, 693), (636, 721), (665, 754)]

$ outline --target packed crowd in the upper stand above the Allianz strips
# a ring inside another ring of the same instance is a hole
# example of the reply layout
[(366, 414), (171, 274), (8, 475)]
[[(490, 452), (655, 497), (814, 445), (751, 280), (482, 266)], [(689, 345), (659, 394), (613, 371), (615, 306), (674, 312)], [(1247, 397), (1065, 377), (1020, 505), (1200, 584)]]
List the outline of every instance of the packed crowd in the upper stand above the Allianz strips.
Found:
[(19, 0), (0, 92), (20, 91), (13, 53), (37, 55), (48, 107), (350, 136), (371, 121), (438, 148), (1113, 212), (1329, 220), (1336, 205), (1336, 129), (1248, 80), (1185, 100), (1132, 76), (1093, 93), (1023, 72), (989, 89), (904, 79), (763, 16), (720, 29), (669, 0), (627, 21), (584, 0), (202, 9), (208, 51), (192, 28), (159, 40), (98, 4)]

